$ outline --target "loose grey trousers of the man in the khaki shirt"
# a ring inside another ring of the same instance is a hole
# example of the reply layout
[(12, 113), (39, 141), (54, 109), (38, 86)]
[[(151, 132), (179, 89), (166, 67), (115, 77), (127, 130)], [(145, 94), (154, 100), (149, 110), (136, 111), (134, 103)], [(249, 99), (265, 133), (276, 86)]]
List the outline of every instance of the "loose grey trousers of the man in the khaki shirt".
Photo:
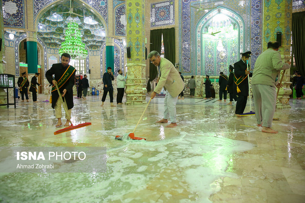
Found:
[(276, 89), (273, 86), (252, 85), (257, 124), (270, 128), (276, 105)]

